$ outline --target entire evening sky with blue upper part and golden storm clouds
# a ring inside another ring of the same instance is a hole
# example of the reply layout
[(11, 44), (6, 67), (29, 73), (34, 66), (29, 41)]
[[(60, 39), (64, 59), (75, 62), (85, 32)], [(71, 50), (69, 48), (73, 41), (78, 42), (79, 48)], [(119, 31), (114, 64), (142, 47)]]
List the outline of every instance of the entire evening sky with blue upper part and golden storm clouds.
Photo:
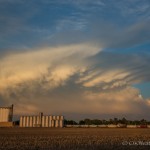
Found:
[(1, 106), (150, 120), (149, 0), (0, 0), (0, 22)]

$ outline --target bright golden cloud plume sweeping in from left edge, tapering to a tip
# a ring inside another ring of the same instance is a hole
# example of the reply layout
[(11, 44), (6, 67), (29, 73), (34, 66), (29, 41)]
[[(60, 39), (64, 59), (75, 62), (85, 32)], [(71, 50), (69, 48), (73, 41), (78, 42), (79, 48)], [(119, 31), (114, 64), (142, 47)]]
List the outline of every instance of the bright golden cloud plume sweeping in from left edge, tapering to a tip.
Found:
[(46, 86), (57, 87), (75, 72), (84, 70), (84, 59), (99, 51), (99, 47), (84, 43), (9, 54), (0, 61), (1, 92), (37, 79)]

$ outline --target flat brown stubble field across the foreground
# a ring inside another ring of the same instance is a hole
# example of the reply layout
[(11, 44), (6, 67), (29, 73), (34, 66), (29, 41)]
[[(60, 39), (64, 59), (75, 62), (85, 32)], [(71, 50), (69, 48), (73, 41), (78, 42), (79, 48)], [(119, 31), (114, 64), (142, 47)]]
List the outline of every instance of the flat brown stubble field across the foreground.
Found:
[(150, 129), (0, 128), (0, 150), (150, 149)]

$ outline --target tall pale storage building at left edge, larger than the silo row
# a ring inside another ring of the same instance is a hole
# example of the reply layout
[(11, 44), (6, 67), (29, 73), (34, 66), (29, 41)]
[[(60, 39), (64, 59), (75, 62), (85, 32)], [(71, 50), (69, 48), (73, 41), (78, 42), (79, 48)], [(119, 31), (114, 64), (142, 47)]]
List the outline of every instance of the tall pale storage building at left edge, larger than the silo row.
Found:
[(0, 127), (13, 126), (13, 105), (10, 107), (0, 107)]

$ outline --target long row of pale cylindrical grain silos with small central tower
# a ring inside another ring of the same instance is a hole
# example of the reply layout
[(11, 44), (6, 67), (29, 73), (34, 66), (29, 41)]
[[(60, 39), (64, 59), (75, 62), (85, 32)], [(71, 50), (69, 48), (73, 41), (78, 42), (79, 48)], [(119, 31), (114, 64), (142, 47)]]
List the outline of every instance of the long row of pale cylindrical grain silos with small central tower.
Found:
[(39, 113), (38, 116), (21, 116), (20, 127), (63, 127), (64, 116), (44, 116)]

